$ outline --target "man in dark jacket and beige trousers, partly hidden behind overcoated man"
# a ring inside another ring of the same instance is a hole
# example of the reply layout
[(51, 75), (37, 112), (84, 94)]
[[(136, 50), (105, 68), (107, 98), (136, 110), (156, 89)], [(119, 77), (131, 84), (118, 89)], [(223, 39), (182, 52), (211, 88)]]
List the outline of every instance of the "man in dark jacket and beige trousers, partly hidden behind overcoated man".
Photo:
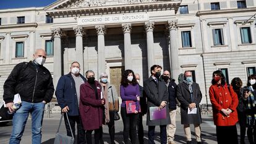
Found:
[(175, 144), (174, 134), (176, 132), (176, 83), (175, 80), (171, 78), (171, 74), (168, 70), (163, 72), (162, 78), (166, 83), (166, 87), (169, 92), (169, 114), (171, 119), (171, 124), (167, 126), (168, 129), (168, 144)]

